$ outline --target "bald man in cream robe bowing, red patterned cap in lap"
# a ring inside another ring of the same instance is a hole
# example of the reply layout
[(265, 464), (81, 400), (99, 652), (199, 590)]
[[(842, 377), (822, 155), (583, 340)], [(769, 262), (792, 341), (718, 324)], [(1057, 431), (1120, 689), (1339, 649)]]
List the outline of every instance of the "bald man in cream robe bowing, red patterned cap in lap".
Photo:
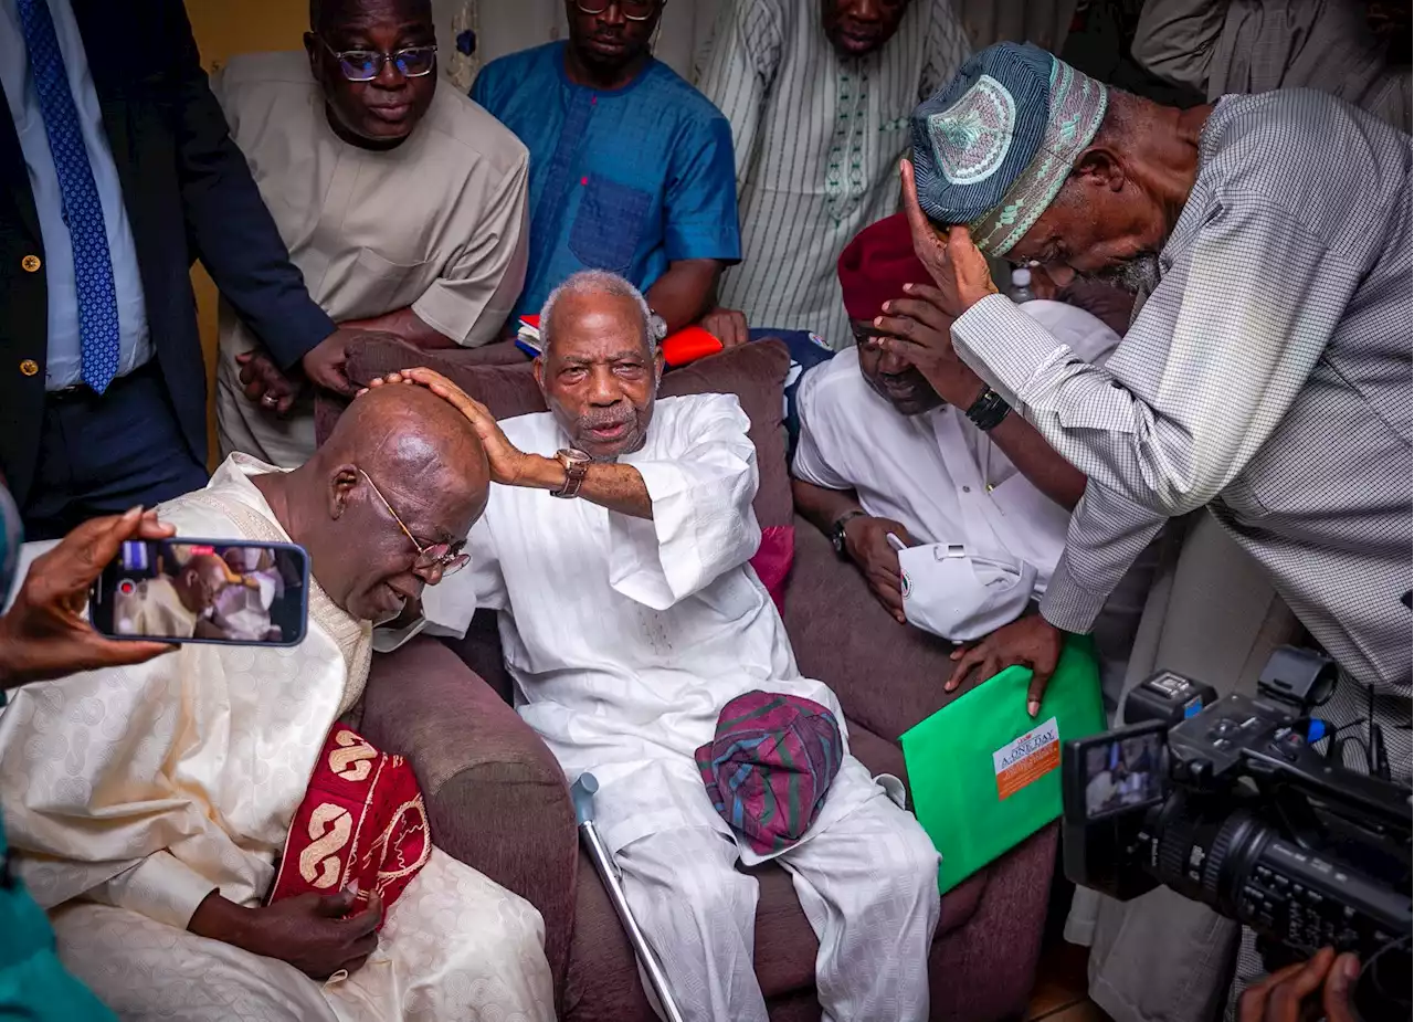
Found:
[(160, 515), (304, 546), (304, 642), (180, 646), (0, 715), (13, 865), (120, 1018), (554, 1016), (540, 916), (431, 847), (411, 768), (337, 724), (372, 622), (464, 563), (488, 488), (465, 420), (414, 387), (356, 400), (298, 469), (233, 455)]

